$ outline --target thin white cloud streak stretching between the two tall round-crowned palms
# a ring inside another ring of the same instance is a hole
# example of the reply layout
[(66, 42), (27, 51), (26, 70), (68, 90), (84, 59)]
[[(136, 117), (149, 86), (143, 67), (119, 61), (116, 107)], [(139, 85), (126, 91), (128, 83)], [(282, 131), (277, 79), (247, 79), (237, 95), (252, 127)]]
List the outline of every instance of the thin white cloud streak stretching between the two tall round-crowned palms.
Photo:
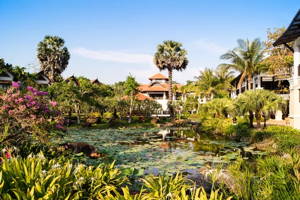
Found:
[(91, 58), (91, 59), (97, 59), (103, 61), (112, 61), (112, 62), (120, 62), (120, 63), (147, 63), (147, 64), (151, 64), (153, 62), (153, 56), (147, 54), (132, 54), (132, 53), (117, 52), (117, 51), (105, 51), (105, 50), (93, 51), (82, 47), (75, 48), (71, 51), (85, 58)]

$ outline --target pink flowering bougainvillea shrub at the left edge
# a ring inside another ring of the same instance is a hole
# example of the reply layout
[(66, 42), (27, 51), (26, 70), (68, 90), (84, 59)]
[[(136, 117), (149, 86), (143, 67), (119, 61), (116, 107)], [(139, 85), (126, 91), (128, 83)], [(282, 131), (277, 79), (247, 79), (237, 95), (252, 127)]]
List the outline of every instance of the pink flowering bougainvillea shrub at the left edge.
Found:
[(57, 103), (50, 102), (47, 95), (32, 87), (21, 94), (18, 83), (13, 83), (0, 96), (0, 144), (45, 143), (63, 136), (64, 120), (55, 109)]

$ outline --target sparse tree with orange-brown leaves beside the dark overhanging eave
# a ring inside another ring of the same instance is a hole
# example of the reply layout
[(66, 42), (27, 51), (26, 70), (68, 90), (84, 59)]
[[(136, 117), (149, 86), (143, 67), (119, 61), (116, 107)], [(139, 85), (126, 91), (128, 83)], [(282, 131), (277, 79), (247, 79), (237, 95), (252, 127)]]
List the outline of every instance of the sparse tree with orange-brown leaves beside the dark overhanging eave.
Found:
[[(267, 40), (263, 41), (263, 44), (266, 47), (265, 53), (268, 55), (266, 62), (269, 67), (269, 72), (281, 78), (290, 78), (292, 76), (293, 53), (284, 45), (278, 45), (276, 47), (272, 45), (285, 30), (284, 27), (274, 28), (273, 32), (267, 29)], [(289, 42), (287, 45), (293, 47), (293, 42)]]

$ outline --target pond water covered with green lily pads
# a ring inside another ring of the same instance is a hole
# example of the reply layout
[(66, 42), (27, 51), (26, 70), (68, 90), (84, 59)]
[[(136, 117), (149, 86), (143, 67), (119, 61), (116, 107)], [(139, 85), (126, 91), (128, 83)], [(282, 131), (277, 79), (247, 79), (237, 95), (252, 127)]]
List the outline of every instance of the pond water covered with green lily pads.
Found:
[[(144, 169), (144, 173), (192, 174), (197, 168), (244, 159), (260, 154), (247, 143), (227, 141), (213, 135), (197, 133), (188, 128), (161, 129), (89, 129), (70, 130), (64, 142), (87, 142), (98, 149), (106, 149), (109, 160), (116, 160), (119, 168)], [(84, 158), (97, 165), (97, 159)]]

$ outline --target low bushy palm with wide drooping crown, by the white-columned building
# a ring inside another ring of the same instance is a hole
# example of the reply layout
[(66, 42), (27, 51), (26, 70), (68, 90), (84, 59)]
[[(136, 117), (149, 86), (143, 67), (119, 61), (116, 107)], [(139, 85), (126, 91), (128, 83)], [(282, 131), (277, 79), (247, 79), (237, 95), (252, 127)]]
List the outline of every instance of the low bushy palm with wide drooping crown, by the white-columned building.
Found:
[(285, 109), (283, 97), (269, 90), (247, 90), (238, 96), (235, 102), (235, 112), (240, 115), (249, 115), (250, 127), (253, 127), (253, 117), (255, 116), (257, 127), (260, 128), (262, 114), (274, 113), (276, 110)]

